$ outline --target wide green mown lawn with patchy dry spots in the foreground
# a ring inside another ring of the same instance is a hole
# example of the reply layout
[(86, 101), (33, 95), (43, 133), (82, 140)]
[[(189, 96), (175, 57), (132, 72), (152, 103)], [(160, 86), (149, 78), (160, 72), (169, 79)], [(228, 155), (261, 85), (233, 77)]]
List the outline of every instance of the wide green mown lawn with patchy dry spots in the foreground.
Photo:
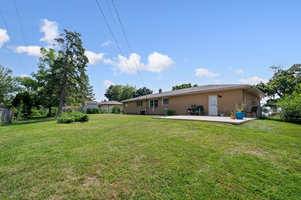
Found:
[(0, 199), (301, 199), (301, 125), (95, 114), (0, 127)]

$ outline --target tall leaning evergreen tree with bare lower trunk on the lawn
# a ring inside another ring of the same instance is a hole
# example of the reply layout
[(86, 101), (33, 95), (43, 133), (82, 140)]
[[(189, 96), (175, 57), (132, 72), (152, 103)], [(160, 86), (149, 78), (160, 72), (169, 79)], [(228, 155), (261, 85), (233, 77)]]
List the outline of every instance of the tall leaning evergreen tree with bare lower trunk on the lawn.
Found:
[(64, 104), (83, 102), (85, 97), (90, 95), (86, 90), (92, 91), (88, 85), (88, 76), (85, 74), (89, 60), (85, 56), (81, 34), (64, 29), (64, 33), (60, 36), (54, 39), (61, 47), (58, 51), (60, 57), (55, 59), (50, 68), (51, 73), (58, 79), (60, 91), (57, 116), (61, 116)]

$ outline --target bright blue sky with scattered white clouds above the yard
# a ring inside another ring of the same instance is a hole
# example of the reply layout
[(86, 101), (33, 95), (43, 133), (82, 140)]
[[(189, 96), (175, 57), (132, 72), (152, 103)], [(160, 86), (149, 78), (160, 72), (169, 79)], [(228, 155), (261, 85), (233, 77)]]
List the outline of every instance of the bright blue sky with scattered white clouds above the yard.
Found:
[(14, 1), (0, 3), (8, 26), (0, 16), (0, 63), (30, 76), (40, 47), (58, 50), (53, 39), (76, 31), (98, 102), (110, 84), (154, 93), (183, 83), (253, 85), (272, 77), (273, 64), (301, 63), (301, 1), (113, 1), (133, 54), (112, 0), (98, 3), (117, 43), (96, 1), (15, 0), (32, 65)]

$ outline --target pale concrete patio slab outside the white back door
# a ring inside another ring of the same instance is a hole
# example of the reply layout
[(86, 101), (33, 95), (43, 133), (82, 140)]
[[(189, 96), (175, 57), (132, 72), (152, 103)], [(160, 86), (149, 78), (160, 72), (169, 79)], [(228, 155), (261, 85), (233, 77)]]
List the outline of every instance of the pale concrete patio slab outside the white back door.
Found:
[(231, 117), (222, 117), (222, 116), (197, 116), (197, 115), (175, 115), (175, 116), (156, 116), (152, 119), (174, 119), (174, 120), (186, 120), (186, 121), (205, 121), (205, 122), (219, 122), (219, 123), (228, 123), (240, 125), (251, 120), (258, 118), (244, 117), (244, 119), (232, 119)]

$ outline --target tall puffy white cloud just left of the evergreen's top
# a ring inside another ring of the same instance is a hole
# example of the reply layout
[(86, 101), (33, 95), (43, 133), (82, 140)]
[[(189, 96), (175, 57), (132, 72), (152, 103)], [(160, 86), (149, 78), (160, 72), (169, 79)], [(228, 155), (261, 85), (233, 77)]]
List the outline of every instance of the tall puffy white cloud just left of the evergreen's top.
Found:
[(40, 41), (47, 42), (52, 45), (54, 43), (54, 38), (59, 36), (57, 22), (48, 21), (47, 19), (42, 19), (43, 26), (40, 29), (40, 32), (44, 32), (45, 36), (40, 38)]

